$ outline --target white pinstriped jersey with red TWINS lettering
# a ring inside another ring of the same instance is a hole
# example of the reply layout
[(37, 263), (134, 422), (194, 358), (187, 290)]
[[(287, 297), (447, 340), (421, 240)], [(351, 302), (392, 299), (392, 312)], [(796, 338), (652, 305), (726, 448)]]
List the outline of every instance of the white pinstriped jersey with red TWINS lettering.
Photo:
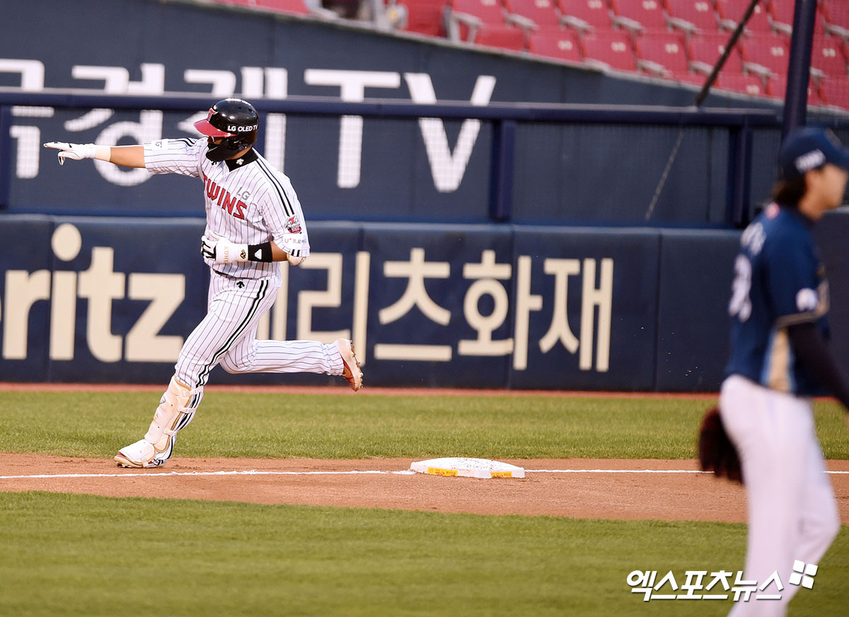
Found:
[[(160, 139), (144, 143), (149, 173), (177, 173), (204, 181), (206, 234), (235, 244), (274, 241), (295, 257), (310, 254), (306, 222), (292, 183), (255, 149), (238, 160), (214, 163), (206, 158), (206, 139)], [(272, 262), (214, 264), (217, 272), (234, 278), (278, 277)]]

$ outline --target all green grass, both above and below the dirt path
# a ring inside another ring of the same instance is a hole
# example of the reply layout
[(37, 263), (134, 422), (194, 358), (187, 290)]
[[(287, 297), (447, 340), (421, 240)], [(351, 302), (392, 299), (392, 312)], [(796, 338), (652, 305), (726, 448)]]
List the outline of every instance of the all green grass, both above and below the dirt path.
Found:
[[(111, 457), (155, 392), (0, 392), (0, 452)], [(210, 393), (178, 457), (694, 456), (706, 401)], [(818, 403), (828, 457), (846, 425)], [(635, 569), (742, 569), (745, 525), (0, 493), (6, 615), (722, 615), (652, 601)], [(790, 615), (845, 611), (849, 527)], [(786, 582), (786, 581), (785, 581)], [(842, 608), (841, 608), (842, 607)]]

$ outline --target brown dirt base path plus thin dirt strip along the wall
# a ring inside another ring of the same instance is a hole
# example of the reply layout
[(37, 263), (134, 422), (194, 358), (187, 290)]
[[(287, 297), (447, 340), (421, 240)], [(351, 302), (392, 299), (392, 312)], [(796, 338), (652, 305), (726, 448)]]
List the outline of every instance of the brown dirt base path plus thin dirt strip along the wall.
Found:
[[(0, 389), (160, 390), (161, 386), (0, 384)], [(217, 386), (210, 390), (238, 391), (239, 387)], [(250, 390), (354, 394), (350, 390), (335, 388), (250, 387)], [(363, 390), (363, 393), (367, 392), (395, 395), (514, 394), (506, 390)], [(670, 396), (599, 392), (515, 394)], [(716, 398), (715, 395), (691, 396), (706, 400)], [(694, 473), (698, 470), (698, 463), (694, 460), (500, 459), (503, 463), (525, 468), (525, 479), (478, 480), (391, 473), (407, 471), (413, 460), (418, 459), (332, 461), (304, 458), (186, 458), (177, 455), (164, 468), (124, 469), (111, 459), (0, 453), (0, 491), (56, 491), (104, 496), (593, 519), (745, 522), (746, 518), (743, 488), (726, 480), (717, 480), (713, 474)], [(849, 460), (828, 461), (827, 467), (830, 471), (847, 472), (830, 474), (830, 480), (835, 487), (841, 521), (849, 524)], [(640, 473), (621, 473), (622, 470)], [(251, 471), (259, 473), (246, 473)], [(351, 474), (353, 471), (383, 473)]]

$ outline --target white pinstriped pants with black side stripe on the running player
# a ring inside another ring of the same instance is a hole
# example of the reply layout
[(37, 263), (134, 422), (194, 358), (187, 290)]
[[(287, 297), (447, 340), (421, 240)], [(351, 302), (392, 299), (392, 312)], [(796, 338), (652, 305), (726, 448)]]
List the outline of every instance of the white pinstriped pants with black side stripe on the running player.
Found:
[(188, 335), (175, 365), (177, 380), (200, 390), (188, 407), (200, 405), (211, 370), (228, 373), (328, 373), (341, 375), (336, 345), (317, 340), (256, 340), (256, 326), (274, 304), (279, 278), (233, 278), (211, 272), (206, 317)]

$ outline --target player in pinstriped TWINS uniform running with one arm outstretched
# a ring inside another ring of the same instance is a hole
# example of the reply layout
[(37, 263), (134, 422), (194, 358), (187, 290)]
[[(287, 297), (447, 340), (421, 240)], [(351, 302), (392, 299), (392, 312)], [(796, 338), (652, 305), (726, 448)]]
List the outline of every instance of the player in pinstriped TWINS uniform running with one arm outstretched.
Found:
[(166, 463), (177, 431), (194, 418), (213, 367), (228, 373), (328, 373), (353, 390), (363, 385), (354, 346), (338, 339), (256, 340), (282, 279), (278, 261), (301, 263), (310, 253), (301, 204), (288, 177), (256, 152), (259, 115), (239, 98), (225, 98), (195, 122), (205, 138), (160, 139), (143, 145), (100, 146), (50, 142), (65, 160), (99, 159), (178, 173), (204, 182), (206, 228), (200, 251), (211, 270), (206, 317), (186, 339), (171, 383), (142, 440), (121, 448), (121, 467)]

